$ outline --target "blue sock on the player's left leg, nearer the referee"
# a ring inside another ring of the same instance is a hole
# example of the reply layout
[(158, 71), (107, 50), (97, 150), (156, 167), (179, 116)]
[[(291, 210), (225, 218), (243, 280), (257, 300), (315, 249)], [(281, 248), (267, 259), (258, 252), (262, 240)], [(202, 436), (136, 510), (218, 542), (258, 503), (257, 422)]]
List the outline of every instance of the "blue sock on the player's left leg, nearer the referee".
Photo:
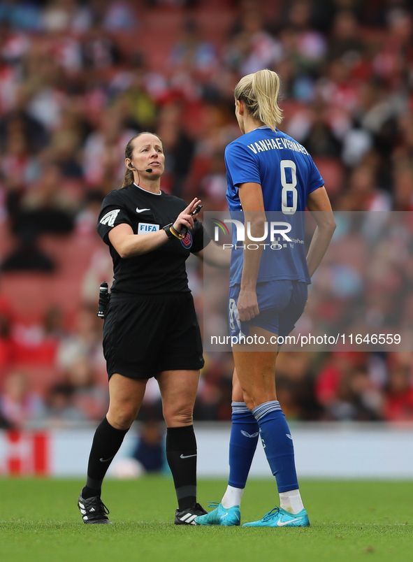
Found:
[(229, 440), (229, 486), (245, 488), (258, 437), (259, 425), (245, 402), (233, 402)]

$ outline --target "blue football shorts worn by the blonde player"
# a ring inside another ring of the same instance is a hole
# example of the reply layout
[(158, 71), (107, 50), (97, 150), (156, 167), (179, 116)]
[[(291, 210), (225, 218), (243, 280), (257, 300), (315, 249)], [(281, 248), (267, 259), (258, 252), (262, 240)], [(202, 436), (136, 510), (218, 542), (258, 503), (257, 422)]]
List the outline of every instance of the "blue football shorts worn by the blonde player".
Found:
[(237, 301), (240, 284), (229, 288), (228, 319), (231, 336), (248, 336), (249, 326), (259, 326), (278, 336), (288, 336), (303, 314), (307, 302), (307, 283), (289, 279), (256, 284), (259, 315), (249, 322), (241, 322)]

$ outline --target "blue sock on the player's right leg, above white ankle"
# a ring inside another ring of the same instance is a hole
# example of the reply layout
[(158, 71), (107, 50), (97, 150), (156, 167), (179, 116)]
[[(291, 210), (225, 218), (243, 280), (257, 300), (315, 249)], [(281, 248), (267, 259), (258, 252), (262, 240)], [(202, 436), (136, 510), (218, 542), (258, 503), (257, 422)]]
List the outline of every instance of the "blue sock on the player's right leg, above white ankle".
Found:
[(273, 400), (260, 404), (252, 414), (258, 421), (264, 452), (277, 480), (278, 491), (298, 489), (293, 438), (280, 402)]

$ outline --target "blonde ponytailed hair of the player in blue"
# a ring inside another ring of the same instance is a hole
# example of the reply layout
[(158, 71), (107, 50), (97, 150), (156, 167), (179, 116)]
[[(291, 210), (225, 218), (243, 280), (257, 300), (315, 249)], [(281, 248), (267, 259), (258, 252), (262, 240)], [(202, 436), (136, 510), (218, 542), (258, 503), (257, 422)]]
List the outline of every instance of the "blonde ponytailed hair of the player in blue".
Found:
[(282, 122), (282, 109), (278, 105), (280, 76), (268, 69), (247, 74), (236, 85), (236, 100), (243, 101), (254, 120), (275, 130)]

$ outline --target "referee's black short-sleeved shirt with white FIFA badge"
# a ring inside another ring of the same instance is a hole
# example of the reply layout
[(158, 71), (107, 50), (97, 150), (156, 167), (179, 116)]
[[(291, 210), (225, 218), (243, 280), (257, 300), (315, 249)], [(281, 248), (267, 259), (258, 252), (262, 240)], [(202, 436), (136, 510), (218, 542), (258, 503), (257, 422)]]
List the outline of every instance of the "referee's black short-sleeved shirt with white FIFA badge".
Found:
[(178, 197), (147, 192), (135, 184), (115, 189), (103, 199), (97, 230), (113, 258), (115, 281), (111, 292), (156, 295), (189, 291), (185, 260), (191, 252), (199, 252), (210, 243), (201, 222), (196, 221), (183, 240), (174, 238), (157, 250), (125, 259), (119, 256), (108, 237), (118, 224), (129, 224), (134, 234), (160, 230), (175, 222), (186, 207), (187, 203)]

